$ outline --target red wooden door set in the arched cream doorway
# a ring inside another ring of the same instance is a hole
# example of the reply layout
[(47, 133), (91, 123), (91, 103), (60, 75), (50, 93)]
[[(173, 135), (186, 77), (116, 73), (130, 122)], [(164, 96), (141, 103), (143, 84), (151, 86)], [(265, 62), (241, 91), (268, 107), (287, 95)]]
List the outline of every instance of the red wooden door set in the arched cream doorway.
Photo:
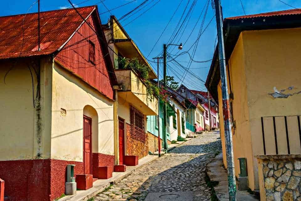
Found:
[(84, 116), (83, 125), (84, 174), (92, 174), (92, 119)]

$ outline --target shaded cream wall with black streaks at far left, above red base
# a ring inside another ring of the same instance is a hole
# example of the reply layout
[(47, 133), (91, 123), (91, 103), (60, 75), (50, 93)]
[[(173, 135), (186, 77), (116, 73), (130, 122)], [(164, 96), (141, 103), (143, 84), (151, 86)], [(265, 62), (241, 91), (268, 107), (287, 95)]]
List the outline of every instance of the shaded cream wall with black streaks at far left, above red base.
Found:
[(33, 65), (29, 59), (18, 59), (15, 62), (0, 62), (0, 160), (47, 159), (50, 157), (50, 63), (41, 59), (41, 99), (35, 100), (34, 108), (32, 79), (28, 67), (33, 73), (36, 93), (38, 83), (33, 67), (36, 68), (37, 65)]

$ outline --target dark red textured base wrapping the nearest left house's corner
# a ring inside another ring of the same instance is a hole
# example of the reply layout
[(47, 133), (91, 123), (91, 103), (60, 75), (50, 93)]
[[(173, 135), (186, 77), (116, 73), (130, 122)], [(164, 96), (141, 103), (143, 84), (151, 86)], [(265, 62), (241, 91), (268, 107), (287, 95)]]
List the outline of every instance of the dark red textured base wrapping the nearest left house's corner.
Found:
[(65, 193), (66, 167), (75, 164), (75, 174), (83, 173), (83, 163), (66, 160), (0, 161), (0, 178), (5, 181), (9, 201), (52, 201)]

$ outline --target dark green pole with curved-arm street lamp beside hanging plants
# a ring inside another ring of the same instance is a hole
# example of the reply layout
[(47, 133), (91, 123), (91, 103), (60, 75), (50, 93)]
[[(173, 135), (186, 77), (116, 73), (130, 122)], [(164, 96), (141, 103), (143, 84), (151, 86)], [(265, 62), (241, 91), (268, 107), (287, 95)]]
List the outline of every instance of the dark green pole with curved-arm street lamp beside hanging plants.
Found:
[[(179, 50), (183, 49), (183, 45), (182, 43), (180, 43), (180, 45), (176, 45), (176, 44), (164, 44), (163, 45), (163, 86), (166, 87), (166, 51), (167, 51), (167, 47), (169, 45), (173, 45), (173, 46), (178, 46)], [(163, 142), (164, 142), (164, 149), (167, 150), (167, 138), (166, 138), (166, 120), (167, 120), (167, 112), (166, 112), (166, 103), (163, 103), (163, 115), (164, 115), (164, 121), (163, 121)]]

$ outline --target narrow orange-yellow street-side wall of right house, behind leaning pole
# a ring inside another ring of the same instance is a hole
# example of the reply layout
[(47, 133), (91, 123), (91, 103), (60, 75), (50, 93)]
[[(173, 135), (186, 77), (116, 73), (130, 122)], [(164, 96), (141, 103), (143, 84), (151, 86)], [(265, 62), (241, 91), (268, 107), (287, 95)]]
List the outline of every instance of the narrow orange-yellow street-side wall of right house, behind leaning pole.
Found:
[[(246, 76), (245, 76), (245, 64), (244, 64), (244, 47), (242, 35), (240, 35), (232, 55), (228, 62), (228, 68), (230, 71), (231, 87), (234, 94), (233, 104), (233, 121), (236, 122), (236, 129), (232, 129), (233, 137), (233, 154), (235, 161), (235, 175), (238, 177), (240, 174), (240, 164), (238, 158), (246, 158), (249, 187), (254, 190), (254, 168), (253, 168), (253, 153), (252, 153), (252, 141), (247, 101), (247, 88), (246, 88)], [(221, 84), (220, 84), (221, 86)], [(228, 84), (228, 92), (230, 94), (230, 85)], [(221, 89), (219, 89), (219, 108), (222, 113), (222, 97)], [(224, 144), (224, 120), (221, 116), (221, 135), (223, 140), (224, 162), (225, 161), (225, 144)]]

